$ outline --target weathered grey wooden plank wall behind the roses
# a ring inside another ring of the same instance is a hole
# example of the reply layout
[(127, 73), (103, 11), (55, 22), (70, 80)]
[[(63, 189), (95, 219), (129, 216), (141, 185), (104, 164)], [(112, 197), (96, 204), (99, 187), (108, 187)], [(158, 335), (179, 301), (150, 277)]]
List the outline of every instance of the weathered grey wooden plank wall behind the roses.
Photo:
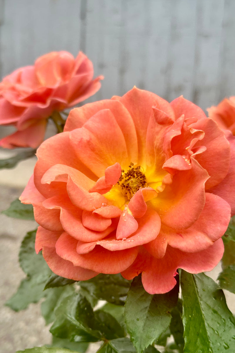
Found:
[(235, 0), (0, 0), (0, 76), (52, 50), (104, 74), (89, 101), (136, 85), (203, 109), (235, 95)]

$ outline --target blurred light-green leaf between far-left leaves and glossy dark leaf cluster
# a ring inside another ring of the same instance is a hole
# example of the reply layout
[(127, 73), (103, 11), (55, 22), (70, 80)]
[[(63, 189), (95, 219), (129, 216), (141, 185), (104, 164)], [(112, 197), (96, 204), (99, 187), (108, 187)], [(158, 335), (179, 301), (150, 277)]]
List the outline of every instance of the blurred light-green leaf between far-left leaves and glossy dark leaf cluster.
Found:
[(73, 285), (57, 288), (55, 287), (47, 289), (44, 293), (46, 298), (41, 304), (41, 312), (45, 319), (46, 325), (48, 325), (55, 319), (55, 308), (60, 305), (64, 298), (75, 294), (75, 288)]

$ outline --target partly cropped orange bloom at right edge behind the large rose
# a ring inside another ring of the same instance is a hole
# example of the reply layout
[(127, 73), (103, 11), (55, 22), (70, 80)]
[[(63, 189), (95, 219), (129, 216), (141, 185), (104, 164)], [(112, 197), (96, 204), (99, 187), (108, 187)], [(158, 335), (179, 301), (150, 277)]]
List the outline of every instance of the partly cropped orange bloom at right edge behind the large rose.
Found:
[(235, 136), (235, 97), (224, 98), (217, 107), (212, 106), (207, 111), (219, 127), (230, 130)]

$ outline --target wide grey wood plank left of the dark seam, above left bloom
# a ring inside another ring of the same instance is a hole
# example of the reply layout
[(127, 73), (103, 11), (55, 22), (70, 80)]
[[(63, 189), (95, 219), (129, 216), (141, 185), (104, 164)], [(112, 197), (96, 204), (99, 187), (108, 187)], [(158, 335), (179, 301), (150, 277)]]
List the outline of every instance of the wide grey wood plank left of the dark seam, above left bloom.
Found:
[(80, 1), (7, 0), (2, 25), (2, 75), (53, 50), (79, 51)]

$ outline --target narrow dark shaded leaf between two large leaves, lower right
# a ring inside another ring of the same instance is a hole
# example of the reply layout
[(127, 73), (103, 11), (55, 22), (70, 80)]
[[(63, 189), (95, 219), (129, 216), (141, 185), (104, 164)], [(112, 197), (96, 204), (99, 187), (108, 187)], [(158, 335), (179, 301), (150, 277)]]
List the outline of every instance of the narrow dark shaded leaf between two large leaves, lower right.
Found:
[(172, 319), (170, 323), (170, 331), (174, 337), (174, 341), (177, 345), (179, 352), (184, 351), (184, 326), (182, 322), (182, 301), (179, 299), (177, 306), (175, 306), (172, 311)]

